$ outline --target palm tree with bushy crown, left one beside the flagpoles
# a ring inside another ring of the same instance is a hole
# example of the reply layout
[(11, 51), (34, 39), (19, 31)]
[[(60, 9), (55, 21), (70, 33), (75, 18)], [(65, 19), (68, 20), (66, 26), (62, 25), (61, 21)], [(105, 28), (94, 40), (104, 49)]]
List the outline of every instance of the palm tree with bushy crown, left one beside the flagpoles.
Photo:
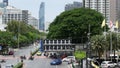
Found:
[(106, 41), (104, 39), (103, 35), (95, 35), (91, 38), (91, 48), (93, 52), (96, 52), (96, 55), (99, 56), (99, 58), (102, 56), (102, 54), (105, 52), (107, 46)]

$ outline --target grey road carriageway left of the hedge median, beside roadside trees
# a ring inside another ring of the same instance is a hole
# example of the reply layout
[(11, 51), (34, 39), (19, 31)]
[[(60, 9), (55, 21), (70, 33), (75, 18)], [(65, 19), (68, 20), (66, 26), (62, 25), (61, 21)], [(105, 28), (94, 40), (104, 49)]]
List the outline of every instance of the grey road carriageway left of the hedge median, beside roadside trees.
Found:
[(36, 49), (36, 46), (28, 46), (28, 47), (23, 47), (20, 49), (17, 49), (17, 51), (15, 51), (15, 57), (13, 57), (13, 55), (6, 55), (6, 56), (2, 56), (0, 55), (0, 61), (1, 59), (5, 59), (5, 63), (0, 63), (2, 68), (5, 68), (6, 65), (15, 65), (18, 62), (21, 62), (20, 56), (26, 56), (29, 57), (30, 52), (34, 51)]

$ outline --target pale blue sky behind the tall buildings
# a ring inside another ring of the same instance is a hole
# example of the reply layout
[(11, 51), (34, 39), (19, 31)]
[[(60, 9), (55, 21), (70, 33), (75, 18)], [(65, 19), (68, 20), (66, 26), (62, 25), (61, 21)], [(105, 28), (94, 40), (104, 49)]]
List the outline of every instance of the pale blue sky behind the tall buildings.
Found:
[[(2, 0), (0, 0), (2, 1)], [(29, 10), (38, 19), (41, 2), (45, 2), (45, 22), (52, 22), (56, 16), (64, 11), (65, 4), (82, 0), (9, 0), (9, 5), (18, 9)]]

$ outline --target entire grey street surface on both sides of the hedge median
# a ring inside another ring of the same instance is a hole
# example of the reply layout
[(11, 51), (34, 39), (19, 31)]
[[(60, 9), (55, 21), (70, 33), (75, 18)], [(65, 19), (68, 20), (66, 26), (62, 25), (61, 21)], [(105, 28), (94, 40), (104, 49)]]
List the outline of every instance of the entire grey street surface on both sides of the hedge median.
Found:
[(28, 60), (30, 52), (34, 51), (36, 46), (29, 46), (21, 48), (15, 51), (15, 57), (13, 55), (2, 56), (0, 59), (5, 59), (6, 62), (1, 63), (2, 68), (6, 68), (6, 65), (15, 65), (18, 62), (21, 62), (20, 56), (26, 56), (27, 59), (23, 60), (24, 68), (70, 68), (70, 65), (63, 62), (61, 65), (50, 65), (52, 59), (46, 58), (45, 56), (34, 56), (34, 60)]

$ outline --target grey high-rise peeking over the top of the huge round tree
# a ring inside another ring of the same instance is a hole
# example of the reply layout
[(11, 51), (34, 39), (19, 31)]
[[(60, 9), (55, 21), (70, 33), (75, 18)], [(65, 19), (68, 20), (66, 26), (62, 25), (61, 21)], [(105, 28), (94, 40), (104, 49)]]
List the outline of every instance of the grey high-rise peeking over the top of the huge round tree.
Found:
[(65, 5), (65, 11), (71, 10), (71, 9), (74, 9), (74, 8), (81, 8), (81, 7), (82, 7), (81, 2), (73, 2), (73, 4), (66, 4)]

